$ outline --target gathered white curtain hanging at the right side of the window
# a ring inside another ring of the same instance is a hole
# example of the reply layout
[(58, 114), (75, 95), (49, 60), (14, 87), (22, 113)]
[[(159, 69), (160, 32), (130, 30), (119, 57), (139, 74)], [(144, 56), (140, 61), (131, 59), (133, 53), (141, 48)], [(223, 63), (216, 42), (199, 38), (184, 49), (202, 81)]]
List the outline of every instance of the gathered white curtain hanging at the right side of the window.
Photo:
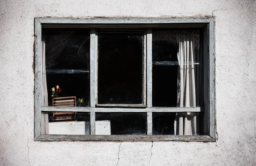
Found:
[[(196, 107), (195, 68), (193, 41), (189, 35), (181, 35), (177, 59), (179, 61), (177, 107)], [(177, 113), (175, 135), (198, 135), (197, 113)]]

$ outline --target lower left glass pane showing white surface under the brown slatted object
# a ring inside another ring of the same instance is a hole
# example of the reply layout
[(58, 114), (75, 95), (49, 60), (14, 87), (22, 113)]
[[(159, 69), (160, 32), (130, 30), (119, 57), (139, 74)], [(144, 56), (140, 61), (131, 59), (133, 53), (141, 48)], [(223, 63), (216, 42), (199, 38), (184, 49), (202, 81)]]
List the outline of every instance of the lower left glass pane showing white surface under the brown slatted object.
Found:
[(90, 135), (90, 113), (51, 112), (48, 114), (49, 134), (54, 135)]

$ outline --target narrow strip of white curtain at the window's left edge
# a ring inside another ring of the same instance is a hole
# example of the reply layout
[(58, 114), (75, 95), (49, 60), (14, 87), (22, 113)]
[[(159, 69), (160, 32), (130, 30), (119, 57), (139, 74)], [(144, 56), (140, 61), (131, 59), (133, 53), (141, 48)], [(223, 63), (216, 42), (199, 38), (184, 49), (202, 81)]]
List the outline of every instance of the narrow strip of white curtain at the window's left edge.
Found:
[[(45, 69), (45, 39), (42, 38), (42, 106), (48, 106), (48, 92), (46, 82), (46, 69)], [(41, 134), (49, 134), (49, 118), (48, 113), (41, 113)]]

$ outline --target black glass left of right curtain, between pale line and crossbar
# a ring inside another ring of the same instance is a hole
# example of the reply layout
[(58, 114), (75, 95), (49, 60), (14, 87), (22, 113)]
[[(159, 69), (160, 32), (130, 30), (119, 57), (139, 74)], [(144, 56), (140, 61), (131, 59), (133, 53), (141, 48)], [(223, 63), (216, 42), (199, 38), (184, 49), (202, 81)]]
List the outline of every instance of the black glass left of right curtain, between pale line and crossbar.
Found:
[(177, 107), (178, 66), (153, 66), (152, 105)]

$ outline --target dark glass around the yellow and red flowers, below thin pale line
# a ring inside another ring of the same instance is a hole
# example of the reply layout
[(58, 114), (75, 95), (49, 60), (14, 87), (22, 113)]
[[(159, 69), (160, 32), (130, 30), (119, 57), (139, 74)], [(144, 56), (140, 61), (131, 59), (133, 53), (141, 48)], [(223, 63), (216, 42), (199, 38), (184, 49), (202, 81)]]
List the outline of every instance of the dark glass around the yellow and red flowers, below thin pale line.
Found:
[(52, 87), (59, 85), (61, 92), (58, 97), (76, 96), (83, 98), (77, 107), (88, 107), (90, 105), (90, 80), (89, 73), (85, 74), (47, 74), (48, 105), (52, 106)]

